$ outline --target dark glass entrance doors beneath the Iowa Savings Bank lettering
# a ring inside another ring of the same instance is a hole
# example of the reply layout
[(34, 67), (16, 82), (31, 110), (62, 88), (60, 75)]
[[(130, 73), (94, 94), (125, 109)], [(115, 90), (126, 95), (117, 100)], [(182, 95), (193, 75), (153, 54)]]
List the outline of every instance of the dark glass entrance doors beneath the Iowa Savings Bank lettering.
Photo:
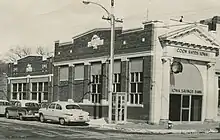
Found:
[(170, 94), (169, 120), (201, 121), (202, 95)]

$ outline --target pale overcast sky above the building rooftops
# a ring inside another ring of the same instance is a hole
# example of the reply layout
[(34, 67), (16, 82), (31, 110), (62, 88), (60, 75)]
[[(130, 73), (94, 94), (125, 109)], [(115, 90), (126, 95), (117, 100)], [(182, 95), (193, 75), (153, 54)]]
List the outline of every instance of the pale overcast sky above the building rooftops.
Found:
[[(92, 0), (110, 10), (110, 0)], [(142, 27), (149, 20), (195, 22), (220, 15), (219, 0), (115, 0), (114, 13), (123, 29)], [(147, 12), (148, 11), (148, 12)], [(148, 14), (147, 14), (148, 13)], [(71, 41), (93, 28), (109, 27), (106, 13), (82, 0), (0, 0), (0, 58), (15, 46), (54, 48), (54, 41)]]

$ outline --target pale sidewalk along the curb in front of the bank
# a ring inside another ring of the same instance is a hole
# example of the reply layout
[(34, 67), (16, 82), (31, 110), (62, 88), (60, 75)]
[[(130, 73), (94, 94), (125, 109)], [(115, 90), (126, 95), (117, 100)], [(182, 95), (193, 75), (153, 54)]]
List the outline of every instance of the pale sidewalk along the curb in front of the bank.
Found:
[(132, 123), (116, 125), (107, 124), (104, 119), (96, 119), (90, 121), (91, 127), (97, 129), (118, 130), (129, 133), (144, 134), (192, 134), (192, 133), (217, 133), (216, 128), (219, 123), (193, 123), (193, 124), (174, 124), (172, 129), (167, 129), (167, 125), (149, 125), (147, 123)]

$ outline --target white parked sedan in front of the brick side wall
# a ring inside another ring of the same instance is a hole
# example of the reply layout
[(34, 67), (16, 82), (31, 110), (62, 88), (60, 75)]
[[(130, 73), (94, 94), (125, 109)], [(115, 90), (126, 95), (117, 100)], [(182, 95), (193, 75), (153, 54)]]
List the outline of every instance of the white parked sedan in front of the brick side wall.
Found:
[(89, 113), (83, 111), (73, 101), (52, 102), (48, 107), (39, 109), (40, 121), (47, 120), (59, 122), (61, 125), (71, 122), (88, 122)]

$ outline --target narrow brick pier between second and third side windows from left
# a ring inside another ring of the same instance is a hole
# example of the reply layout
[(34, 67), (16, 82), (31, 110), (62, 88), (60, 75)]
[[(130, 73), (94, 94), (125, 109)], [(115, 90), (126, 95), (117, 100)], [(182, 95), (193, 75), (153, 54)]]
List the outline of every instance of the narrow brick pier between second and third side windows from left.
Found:
[(84, 63), (84, 92), (86, 92), (83, 103), (90, 102), (90, 86), (91, 86), (91, 63)]

